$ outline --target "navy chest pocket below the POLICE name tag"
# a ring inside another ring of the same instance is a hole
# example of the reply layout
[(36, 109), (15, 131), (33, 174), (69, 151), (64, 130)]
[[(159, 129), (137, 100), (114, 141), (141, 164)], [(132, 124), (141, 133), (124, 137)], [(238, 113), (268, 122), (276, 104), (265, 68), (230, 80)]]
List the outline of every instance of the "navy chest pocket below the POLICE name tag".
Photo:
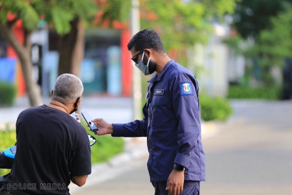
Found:
[(151, 102), (152, 121), (151, 125), (155, 130), (173, 128), (176, 121), (172, 103), (167, 94), (153, 95)]

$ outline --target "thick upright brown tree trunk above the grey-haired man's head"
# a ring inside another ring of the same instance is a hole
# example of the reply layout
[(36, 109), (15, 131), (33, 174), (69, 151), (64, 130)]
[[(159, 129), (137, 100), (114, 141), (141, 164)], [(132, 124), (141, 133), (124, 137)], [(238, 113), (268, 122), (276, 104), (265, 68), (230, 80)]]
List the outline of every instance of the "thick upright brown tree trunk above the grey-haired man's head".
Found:
[(80, 66), (84, 58), (85, 28), (82, 21), (76, 18), (71, 22), (71, 30), (59, 40), (58, 74), (70, 73), (80, 77)]

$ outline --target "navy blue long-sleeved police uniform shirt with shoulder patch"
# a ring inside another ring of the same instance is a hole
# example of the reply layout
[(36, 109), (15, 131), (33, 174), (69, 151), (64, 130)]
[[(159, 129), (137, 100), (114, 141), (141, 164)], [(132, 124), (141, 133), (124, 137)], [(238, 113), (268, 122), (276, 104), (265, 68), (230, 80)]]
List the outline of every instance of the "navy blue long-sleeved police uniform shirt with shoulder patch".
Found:
[(205, 181), (196, 78), (171, 60), (148, 82), (144, 119), (113, 124), (112, 136), (147, 136), (151, 182), (167, 181), (174, 163), (186, 167), (185, 180)]

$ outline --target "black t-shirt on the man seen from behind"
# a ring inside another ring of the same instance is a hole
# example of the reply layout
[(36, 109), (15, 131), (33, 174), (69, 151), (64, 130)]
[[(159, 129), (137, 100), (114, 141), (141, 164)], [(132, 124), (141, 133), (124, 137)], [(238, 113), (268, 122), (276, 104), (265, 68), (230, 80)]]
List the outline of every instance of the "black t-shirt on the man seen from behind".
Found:
[(69, 194), (70, 176), (91, 173), (86, 130), (70, 115), (46, 105), (28, 108), (16, 122), (17, 151), (1, 188), (23, 194)]

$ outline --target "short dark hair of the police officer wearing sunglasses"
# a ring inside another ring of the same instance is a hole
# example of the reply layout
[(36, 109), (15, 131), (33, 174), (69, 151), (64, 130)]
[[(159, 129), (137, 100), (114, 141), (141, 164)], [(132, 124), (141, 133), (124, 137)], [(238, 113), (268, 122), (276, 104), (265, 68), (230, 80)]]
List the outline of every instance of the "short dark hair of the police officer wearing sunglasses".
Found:
[(158, 52), (165, 52), (159, 35), (151, 29), (143, 29), (137, 32), (128, 43), (128, 50), (133, 47), (135, 51), (142, 51), (146, 48), (153, 48)]

